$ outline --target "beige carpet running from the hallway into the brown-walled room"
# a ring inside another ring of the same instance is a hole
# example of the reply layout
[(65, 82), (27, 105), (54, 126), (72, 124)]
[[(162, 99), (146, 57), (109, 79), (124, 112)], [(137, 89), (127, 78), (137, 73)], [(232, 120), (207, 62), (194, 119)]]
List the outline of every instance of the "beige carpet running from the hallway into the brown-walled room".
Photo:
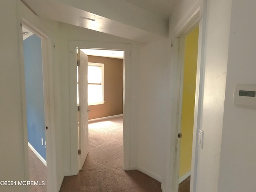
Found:
[(89, 154), (60, 192), (162, 192), (161, 183), (138, 170), (122, 170), (122, 117), (89, 124)]

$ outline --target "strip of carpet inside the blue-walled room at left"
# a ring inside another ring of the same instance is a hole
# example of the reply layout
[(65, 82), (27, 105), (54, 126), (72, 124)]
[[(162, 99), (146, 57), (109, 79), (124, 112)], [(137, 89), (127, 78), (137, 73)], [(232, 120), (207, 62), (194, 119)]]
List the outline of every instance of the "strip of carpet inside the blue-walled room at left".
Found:
[(29, 179), (30, 181), (44, 181), (45, 185), (31, 185), (30, 192), (47, 192), (46, 166), (28, 147)]

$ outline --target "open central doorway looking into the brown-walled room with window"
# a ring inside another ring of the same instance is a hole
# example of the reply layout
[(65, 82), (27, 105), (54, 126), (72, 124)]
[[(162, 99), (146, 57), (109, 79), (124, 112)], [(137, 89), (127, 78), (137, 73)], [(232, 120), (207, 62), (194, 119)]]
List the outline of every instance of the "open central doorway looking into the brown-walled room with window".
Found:
[[(104, 102), (94, 104), (89, 103), (89, 158), (90, 152), (99, 158), (91, 161), (104, 164), (106, 170), (123, 167), (123, 78), (124, 78), (124, 51), (121, 50), (85, 50), (88, 55), (88, 65), (90, 68), (100, 64), (102, 68), (102, 82), (104, 84)], [(96, 51), (96, 52), (95, 52)], [(100, 52), (98, 52), (100, 51)], [(98, 53), (97, 53), (98, 52)], [(88, 83), (92, 83), (88, 67)], [(100, 74), (100, 73), (99, 73)], [(96, 76), (96, 75), (94, 75)], [(88, 89), (88, 95), (94, 93), (93, 85)], [(89, 87), (88, 87), (89, 88)], [(93, 96), (95, 98), (95, 96)], [(100, 102), (100, 100), (98, 101)], [(97, 155), (98, 154), (98, 155)], [(104, 159), (105, 158), (105, 159)], [(95, 169), (94, 169), (95, 170)]]

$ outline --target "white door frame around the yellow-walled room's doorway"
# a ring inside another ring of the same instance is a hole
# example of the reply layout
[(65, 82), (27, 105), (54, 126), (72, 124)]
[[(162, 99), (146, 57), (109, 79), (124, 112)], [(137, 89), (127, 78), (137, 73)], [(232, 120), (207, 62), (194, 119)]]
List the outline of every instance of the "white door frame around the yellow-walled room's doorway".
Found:
[(194, 130), (193, 130), (193, 144), (192, 144), (192, 162), (191, 162), (191, 178), (190, 178), (190, 192), (196, 192), (196, 178), (197, 178), (197, 164), (198, 164), (198, 147), (197, 134), (200, 127), (201, 120), (201, 106), (202, 106), (202, 87), (204, 82), (204, 42), (205, 42), (205, 25), (206, 25), (206, 3), (207, 0), (195, 0), (188, 12), (179, 20), (174, 27), (173, 39), (173, 63), (176, 65), (177, 76), (174, 91), (174, 103), (177, 105), (173, 108), (171, 140), (174, 158), (171, 162), (171, 191), (178, 192), (178, 174), (179, 174), (179, 160), (180, 160), (180, 140), (178, 133), (181, 130), (181, 115), (182, 115), (182, 90), (183, 90), (183, 70), (184, 70), (184, 37), (194, 27), (199, 24), (198, 36), (198, 60), (196, 70), (196, 93), (195, 93), (195, 108), (194, 108)]

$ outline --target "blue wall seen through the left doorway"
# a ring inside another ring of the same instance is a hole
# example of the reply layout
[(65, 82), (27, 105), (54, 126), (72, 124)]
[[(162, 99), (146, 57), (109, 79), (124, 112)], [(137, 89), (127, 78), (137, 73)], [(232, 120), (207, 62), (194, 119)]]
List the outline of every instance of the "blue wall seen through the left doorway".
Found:
[(28, 142), (46, 160), (41, 39), (32, 35), (23, 41), (23, 46)]

